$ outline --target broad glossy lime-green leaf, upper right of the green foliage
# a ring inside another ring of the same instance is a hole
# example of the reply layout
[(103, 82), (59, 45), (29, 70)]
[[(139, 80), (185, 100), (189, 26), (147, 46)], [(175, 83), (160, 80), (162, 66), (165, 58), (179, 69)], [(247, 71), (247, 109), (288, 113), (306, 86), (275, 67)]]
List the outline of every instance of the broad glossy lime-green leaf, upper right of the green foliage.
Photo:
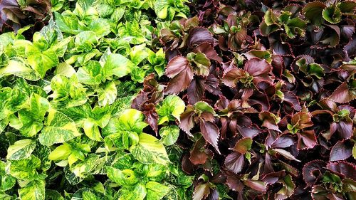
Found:
[(112, 53), (106, 58), (104, 65), (104, 72), (106, 76), (116, 75), (121, 78), (129, 73), (131, 73), (134, 64), (124, 56)]

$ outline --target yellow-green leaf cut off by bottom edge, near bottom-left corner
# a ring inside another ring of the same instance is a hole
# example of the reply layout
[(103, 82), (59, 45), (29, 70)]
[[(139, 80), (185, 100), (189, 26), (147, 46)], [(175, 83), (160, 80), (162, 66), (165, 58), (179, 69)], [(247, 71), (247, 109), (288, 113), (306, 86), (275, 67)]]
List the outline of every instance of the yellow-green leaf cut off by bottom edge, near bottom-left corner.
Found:
[(25, 187), (19, 189), (20, 199), (44, 200), (46, 181), (31, 181)]

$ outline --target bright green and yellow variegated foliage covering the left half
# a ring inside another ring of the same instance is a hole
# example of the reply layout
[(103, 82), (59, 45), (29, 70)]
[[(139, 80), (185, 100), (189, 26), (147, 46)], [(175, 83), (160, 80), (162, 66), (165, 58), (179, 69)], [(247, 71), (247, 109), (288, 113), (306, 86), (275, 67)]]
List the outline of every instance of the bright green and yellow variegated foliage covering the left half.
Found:
[[(145, 77), (164, 73), (155, 1), (51, 4), (31, 40), (30, 26), (0, 35), (0, 199), (189, 199), (174, 144), (184, 102), (157, 101), (159, 137), (130, 108)], [(169, 19), (184, 16), (174, 9)]]

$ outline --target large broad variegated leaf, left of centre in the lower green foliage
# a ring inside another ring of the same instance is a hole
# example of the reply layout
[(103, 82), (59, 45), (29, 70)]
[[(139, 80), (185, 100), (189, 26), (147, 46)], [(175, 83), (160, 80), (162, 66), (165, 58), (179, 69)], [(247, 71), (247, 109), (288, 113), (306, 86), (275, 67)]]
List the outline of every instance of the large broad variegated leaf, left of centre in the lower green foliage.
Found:
[(40, 143), (46, 146), (66, 142), (80, 135), (75, 122), (57, 110), (49, 110), (46, 125), (38, 136)]

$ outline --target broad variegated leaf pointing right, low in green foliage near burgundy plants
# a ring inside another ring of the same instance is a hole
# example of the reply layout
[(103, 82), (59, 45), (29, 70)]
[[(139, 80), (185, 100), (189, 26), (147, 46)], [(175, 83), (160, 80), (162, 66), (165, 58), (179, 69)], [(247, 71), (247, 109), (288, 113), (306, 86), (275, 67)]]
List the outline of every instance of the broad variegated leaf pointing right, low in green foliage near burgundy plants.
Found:
[(130, 152), (138, 161), (145, 164), (167, 164), (169, 158), (163, 144), (156, 137), (141, 133), (137, 145), (130, 147)]

